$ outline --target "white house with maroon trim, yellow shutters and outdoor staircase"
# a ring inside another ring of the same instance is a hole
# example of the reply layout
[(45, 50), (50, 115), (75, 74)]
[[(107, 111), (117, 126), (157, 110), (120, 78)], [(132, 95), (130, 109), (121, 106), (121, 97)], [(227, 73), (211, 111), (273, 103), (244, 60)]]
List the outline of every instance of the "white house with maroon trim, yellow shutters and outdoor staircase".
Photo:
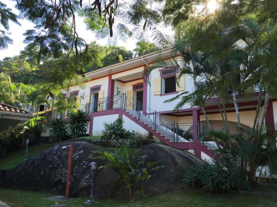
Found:
[[(199, 107), (191, 108), (186, 104), (178, 112), (173, 113), (179, 100), (164, 103), (184, 91), (193, 91), (191, 78), (183, 75), (179, 84), (176, 84), (178, 70), (161, 68), (151, 72), (150, 84), (143, 79), (147, 65), (153, 63), (158, 56), (168, 57), (170, 53), (171, 48), (167, 48), (91, 71), (85, 74), (86, 78), (90, 79), (85, 82), (85, 89), (77, 85), (70, 86), (69, 93), (76, 96), (76, 101), (81, 105), (80, 109), (86, 112), (90, 121), (87, 134), (101, 135), (104, 129), (103, 122), (122, 118), (124, 128), (142, 136), (151, 133), (164, 143), (190, 150), (202, 159), (214, 156), (214, 144), (199, 141), (200, 134), (205, 128), (202, 110)], [(263, 100), (264, 97), (265, 93)], [(247, 99), (237, 95), (237, 100), (241, 123), (252, 126), (258, 93)], [(215, 125), (219, 123), (221, 115), (216, 98), (207, 100), (205, 109), (209, 120), (214, 121)], [(232, 97), (226, 104), (226, 110), (228, 121), (236, 122)], [(270, 121), (277, 121), (277, 100), (273, 98), (269, 100), (266, 114), (266, 122)]]

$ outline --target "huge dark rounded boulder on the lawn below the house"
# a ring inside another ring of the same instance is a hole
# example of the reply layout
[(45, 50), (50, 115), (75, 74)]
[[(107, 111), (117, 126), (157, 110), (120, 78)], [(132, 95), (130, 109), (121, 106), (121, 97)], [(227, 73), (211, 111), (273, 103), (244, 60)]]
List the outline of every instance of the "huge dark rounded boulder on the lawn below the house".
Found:
[[(89, 163), (95, 161), (98, 166), (105, 161), (92, 159), (98, 156), (95, 151), (113, 151), (87, 141), (69, 141), (55, 145), (9, 171), (0, 173), (0, 186), (13, 189), (52, 192), (63, 195), (66, 188), (68, 149), (64, 145), (74, 144), (70, 196), (88, 196), (90, 192)], [(145, 163), (163, 159), (157, 165), (165, 165), (153, 171), (147, 182), (146, 194), (159, 194), (176, 189), (195, 163), (202, 162), (195, 155), (163, 144), (146, 143), (135, 148), (143, 151)], [(94, 196), (96, 198), (124, 198), (127, 189), (118, 179), (118, 174), (110, 168), (97, 169), (94, 177)]]

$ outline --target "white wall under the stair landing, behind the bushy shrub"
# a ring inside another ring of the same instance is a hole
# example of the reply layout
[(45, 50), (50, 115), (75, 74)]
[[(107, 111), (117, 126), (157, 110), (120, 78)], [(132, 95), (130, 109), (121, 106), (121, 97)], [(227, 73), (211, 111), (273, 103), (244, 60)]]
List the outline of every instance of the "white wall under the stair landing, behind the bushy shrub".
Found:
[(118, 118), (118, 114), (111, 114), (99, 117), (93, 117), (92, 136), (102, 135), (104, 130), (104, 122), (113, 122)]

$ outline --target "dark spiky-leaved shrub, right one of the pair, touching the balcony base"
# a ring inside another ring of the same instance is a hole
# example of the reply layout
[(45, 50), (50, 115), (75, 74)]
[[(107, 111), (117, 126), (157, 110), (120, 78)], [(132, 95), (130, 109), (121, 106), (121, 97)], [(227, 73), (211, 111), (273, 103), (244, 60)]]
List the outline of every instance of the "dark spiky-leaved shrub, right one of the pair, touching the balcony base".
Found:
[(88, 126), (86, 113), (81, 110), (78, 110), (77, 113), (70, 113), (67, 124), (72, 138), (78, 138), (85, 135)]

